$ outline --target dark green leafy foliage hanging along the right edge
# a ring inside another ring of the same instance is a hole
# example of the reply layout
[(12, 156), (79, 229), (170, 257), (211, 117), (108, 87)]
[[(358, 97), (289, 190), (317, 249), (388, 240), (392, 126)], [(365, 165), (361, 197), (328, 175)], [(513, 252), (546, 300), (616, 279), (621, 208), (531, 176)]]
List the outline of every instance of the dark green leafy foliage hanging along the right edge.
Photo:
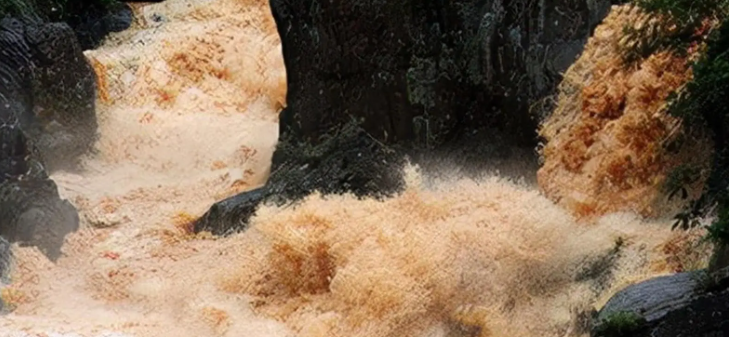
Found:
[[(685, 212), (676, 216), (674, 228), (697, 227), (700, 226), (699, 218), (713, 215), (715, 219), (707, 226), (708, 239), (720, 247), (725, 246), (729, 244), (729, 106), (726, 105), (729, 94), (729, 1), (636, 0), (635, 3), (658, 18), (662, 27), (673, 27), (663, 30), (663, 34), (646, 34), (644, 30), (638, 35), (639, 40), (657, 41), (649, 44), (674, 53), (701, 51), (692, 63), (693, 79), (668, 99), (668, 112), (681, 119), (685, 137), (701, 137), (708, 133), (714, 154), (703, 193)], [(666, 188), (671, 196), (680, 191), (686, 198), (684, 184), (696, 180), (701, 170), (684, 166), (673, 173), (675, 179), (670, 180)]]

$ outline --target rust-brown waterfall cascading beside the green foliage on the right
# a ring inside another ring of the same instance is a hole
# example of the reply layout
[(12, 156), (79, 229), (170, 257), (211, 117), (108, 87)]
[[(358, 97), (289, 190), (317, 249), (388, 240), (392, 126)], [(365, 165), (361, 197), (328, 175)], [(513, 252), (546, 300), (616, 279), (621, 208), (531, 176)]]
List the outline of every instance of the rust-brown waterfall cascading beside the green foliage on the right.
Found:
[[(656, 24), (633, 5), (613, 8), (565, 73), (556, 108), (539, 130), (539, 186), (580, 218), (675, 212), (681, 205), (667, 204), (658, 187), (672, 169), (709, 160), (708, 141), (701, 139), (675, 152), (662, 148), (679, 123), (665, 111), (665, 100), (691, 79), (690, 60), (658, 51), (626, 63), (625, 50), (636, 44), (625, 27), (645, 22)], [(693, 190), (701, 183), (689, 186), (687, 196), (699, 194)]]

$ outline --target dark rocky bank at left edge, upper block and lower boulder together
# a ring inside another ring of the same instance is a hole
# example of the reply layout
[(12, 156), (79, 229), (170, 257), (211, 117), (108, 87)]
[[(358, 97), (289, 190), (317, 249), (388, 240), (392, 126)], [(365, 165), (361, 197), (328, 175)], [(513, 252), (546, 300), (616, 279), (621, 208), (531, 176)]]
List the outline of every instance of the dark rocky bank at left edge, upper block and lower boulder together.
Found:
[(96, 130), (93, 71), (63, 23), (4, 18), (0, 53), (0, 236), (55, 260), (79, 220), (46, 162), (68, 161), (93, 141), (79, 141)]

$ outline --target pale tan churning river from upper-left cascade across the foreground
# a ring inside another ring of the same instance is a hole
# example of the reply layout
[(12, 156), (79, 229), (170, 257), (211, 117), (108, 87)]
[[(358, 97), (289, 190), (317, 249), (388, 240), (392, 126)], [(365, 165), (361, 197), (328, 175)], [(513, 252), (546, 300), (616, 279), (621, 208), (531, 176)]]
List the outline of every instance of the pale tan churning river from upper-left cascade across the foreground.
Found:
[(384, 202), (313, 195), (243, 234), (191, 236), (194, 216), (267, 177), (280, 42), (267, 1), (135, 11), (87, 52), (97, 151), (53, 177), (83, 229), (56, 264), (15, 247), (2, 336), (579, 336), (615, 290), (702, 263), (667, 221), (578, 222), (535, 186), (414, 167)]

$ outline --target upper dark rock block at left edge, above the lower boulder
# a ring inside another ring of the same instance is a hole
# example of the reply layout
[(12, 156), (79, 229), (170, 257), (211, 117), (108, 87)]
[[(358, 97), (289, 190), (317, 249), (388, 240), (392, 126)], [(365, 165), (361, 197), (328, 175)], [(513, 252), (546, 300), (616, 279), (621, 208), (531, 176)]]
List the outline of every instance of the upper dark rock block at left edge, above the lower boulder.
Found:
[(49, 172), (76, 165), (95, 141), (96, 76), (65, 23), (0, 20), (0, 102)]

